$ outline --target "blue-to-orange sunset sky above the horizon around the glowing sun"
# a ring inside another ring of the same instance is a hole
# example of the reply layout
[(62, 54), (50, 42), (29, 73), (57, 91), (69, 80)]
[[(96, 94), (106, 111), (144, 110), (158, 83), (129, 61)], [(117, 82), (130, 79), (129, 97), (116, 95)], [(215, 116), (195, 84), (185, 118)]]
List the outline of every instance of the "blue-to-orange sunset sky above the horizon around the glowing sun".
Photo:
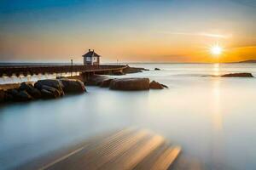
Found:
[(256, 59), (255, 0), (1, 0), (0, 62)]

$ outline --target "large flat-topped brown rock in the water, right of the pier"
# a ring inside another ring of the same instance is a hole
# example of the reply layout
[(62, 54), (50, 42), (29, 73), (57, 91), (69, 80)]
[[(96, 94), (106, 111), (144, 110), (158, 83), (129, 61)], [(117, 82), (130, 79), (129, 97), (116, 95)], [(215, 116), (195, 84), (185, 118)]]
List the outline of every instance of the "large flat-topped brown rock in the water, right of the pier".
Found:
[(110, 89), (115, 90), (148, 90), (148, 78), (119, 78), (110, 82)]

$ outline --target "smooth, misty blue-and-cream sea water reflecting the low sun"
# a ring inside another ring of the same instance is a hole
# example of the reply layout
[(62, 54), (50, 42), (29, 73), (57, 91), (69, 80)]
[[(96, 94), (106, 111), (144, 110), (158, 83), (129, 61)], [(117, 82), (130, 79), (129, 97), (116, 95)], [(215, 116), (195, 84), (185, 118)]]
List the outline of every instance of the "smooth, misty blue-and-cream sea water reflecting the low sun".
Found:
[[(206, 169), (256, 168), (256, 78), (204, 77), (252, 72), (254, 64), (133, 64), (164, 90), (88, 93), (0, 106), (0, 169), (98, 133), (143, 127), (180, 144)], [(160, 71), (154, 71), (158, 67)]]

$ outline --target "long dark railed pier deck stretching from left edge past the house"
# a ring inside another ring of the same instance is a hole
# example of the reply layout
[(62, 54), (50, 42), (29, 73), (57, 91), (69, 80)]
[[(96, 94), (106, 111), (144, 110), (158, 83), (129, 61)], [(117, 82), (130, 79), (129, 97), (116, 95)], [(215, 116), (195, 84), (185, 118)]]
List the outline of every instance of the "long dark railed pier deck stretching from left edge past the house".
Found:
[(127, 65), (1, 65), (0, 77), (67, 72), (119, 71)]

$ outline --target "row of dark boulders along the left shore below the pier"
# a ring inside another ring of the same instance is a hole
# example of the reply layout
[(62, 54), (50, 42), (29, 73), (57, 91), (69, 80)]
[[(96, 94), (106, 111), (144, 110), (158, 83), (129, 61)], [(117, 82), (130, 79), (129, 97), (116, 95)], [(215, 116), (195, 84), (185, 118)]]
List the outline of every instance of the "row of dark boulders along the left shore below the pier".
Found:
[(47, 79), (39, 80), (34, 85), (22, 82), (19, 88), (0, 90), (0, 102), (55, 99), (65, 94), (81, 94), (85, 91), (84, 83), (79, 80)]

